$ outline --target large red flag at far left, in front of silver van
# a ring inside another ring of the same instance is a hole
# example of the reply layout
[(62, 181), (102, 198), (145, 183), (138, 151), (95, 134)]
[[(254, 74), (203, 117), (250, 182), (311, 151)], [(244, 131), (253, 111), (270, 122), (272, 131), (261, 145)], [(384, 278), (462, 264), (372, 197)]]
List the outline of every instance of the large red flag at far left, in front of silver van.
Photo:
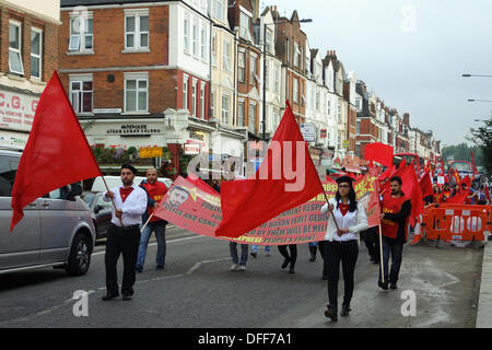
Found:
[(22, 209), (54, 189), (102, 176), (85, 135), (55, 71), (34, 115), (12, 189), (10, 230), (24, 217)]

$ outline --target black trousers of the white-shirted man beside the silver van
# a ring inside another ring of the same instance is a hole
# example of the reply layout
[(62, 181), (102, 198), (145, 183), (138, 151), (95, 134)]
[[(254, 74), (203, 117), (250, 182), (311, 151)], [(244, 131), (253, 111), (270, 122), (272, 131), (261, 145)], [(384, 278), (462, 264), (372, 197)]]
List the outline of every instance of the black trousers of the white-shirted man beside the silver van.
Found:
[(124, 278), (121, 283), (121, 293), (133, 295), (133, 284), (136, 279), (134, 265), (140, 245), (140, 228), (122, 230), (110, 225), (107, 233), (106, 254), (104, 261), (106, 264), (106, 289), (110, 294), (118, 294), (118, 275), (116, 265), (119, 255), (124, 259)]

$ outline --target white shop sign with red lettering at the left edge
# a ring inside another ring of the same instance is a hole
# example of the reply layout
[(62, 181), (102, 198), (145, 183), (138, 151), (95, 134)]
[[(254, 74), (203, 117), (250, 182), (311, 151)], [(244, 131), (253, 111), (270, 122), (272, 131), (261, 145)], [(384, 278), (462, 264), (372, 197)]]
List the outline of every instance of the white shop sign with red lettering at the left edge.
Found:
[(38, 96), (0, 91), (0, 128), (31, 131)]

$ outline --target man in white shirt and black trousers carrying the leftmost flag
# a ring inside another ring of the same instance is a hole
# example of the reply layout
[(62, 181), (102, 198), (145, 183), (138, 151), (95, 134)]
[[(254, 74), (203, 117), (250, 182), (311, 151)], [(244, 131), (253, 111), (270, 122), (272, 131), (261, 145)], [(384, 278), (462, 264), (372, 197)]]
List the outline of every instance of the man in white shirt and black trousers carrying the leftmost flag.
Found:
[[(122, 186), (112, 188), (103, 197), (104, 201), (115, 201), (112, 212), (112, 224), (106, 242), (106, 290), (104, 301), (115, 299), (119, 295), (118, 275), (116, 265), (119, 255), (124, 258), (124, 278), (121, 283), (122, 300), (130, 300), (133, 295), (136, 279), (134, 265), (137, 262), (140, 244), (140, 225), (142, 214), (147, 210), (147, 194), (133, 184), (137, 170), (129, 164), (121, 165)], [(122, 225), (121, 225), (122, 224)]]

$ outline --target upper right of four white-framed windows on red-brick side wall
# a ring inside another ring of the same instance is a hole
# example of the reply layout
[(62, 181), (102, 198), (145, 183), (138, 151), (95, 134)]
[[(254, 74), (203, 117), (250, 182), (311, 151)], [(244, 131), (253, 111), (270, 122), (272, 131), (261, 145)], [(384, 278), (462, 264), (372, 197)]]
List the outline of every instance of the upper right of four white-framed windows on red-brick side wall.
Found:
[(125, 15), (125, 48), (149, 48), (149, 11)]

